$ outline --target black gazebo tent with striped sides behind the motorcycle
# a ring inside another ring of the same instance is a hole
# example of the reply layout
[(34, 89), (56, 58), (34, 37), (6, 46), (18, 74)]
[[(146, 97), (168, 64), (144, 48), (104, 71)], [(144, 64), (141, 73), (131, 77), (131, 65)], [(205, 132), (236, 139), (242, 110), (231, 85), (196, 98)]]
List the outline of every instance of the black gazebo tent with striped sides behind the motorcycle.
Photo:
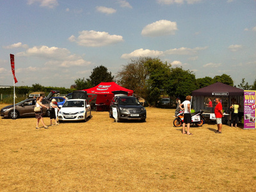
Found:
[[(243, 106), (243, 95), (244, 90), (217, 82), (192, 92), (192, 108), (194, 108), (195, 111), (200, 111), (200, 109), (202, 109), (203, 111), (207, 111), (207, 113), (214, 113), (214, 106), (216, 105), (214, 99), (220, 98), (223, 100), (223, 109), (226, 113), (229, 113), (229, 107), (231, 106), (232, 99), (236, 99), (237, 102)], [(212, 99), (212, 108), (205, 105), (208, 98)], [(241, 111), (242, 110), (243, 108), (241, 108)]]

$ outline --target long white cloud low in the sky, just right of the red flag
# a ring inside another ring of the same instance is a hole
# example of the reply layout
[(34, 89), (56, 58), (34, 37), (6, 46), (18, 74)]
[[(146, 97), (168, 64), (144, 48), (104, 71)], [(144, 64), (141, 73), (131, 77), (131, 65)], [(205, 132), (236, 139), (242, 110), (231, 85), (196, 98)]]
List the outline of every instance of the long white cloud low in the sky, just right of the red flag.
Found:
[(68, 49), (59, 47), (47, 47), (45, 45), (32, 47), (24, 52), (19, 52), (17, 56), (35, 56), (45, 58), (48, 61), (45, 65), (60, 67), (77, 67), (90, 65), (90, 61), (85, 61), (77, 54), (71, 54)]

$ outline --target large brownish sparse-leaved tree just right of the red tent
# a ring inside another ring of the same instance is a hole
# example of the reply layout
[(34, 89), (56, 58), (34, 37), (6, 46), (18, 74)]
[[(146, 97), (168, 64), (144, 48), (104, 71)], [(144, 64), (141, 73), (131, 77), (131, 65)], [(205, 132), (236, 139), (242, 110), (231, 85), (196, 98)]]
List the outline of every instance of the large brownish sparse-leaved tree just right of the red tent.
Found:
[(152, 58), (138, 58), (131, 60), (116, 75), (116, 82), (127, 89), (133, 90), (136, 95), (142, 98), (147, 96), (148, 70), (145, 63)]

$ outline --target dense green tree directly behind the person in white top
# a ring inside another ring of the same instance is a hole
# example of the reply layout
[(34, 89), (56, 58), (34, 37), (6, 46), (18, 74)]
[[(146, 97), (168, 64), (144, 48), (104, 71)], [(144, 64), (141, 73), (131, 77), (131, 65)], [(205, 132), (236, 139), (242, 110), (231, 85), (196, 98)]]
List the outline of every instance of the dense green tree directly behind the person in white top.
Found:
[(171, 68), (171, 74), (168, 81), (167, 93), (170, 96), (179, 96), (184, 100), (186, 95), (191, 95), (196, 90), (195, 74), (190, 70), (184, 70), (182, 67)]

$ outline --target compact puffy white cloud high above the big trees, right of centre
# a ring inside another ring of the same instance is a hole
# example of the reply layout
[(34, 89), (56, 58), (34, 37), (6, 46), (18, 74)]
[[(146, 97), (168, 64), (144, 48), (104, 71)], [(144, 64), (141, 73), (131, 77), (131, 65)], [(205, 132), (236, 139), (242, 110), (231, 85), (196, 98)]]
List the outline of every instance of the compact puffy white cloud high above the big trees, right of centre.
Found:
[(142, 29), (141, 35), (145, 36), (162, 36), (174, 35), (177, 31), (177, 23), (170, 20), (158, 20), (152, 24), (148, 24)]

